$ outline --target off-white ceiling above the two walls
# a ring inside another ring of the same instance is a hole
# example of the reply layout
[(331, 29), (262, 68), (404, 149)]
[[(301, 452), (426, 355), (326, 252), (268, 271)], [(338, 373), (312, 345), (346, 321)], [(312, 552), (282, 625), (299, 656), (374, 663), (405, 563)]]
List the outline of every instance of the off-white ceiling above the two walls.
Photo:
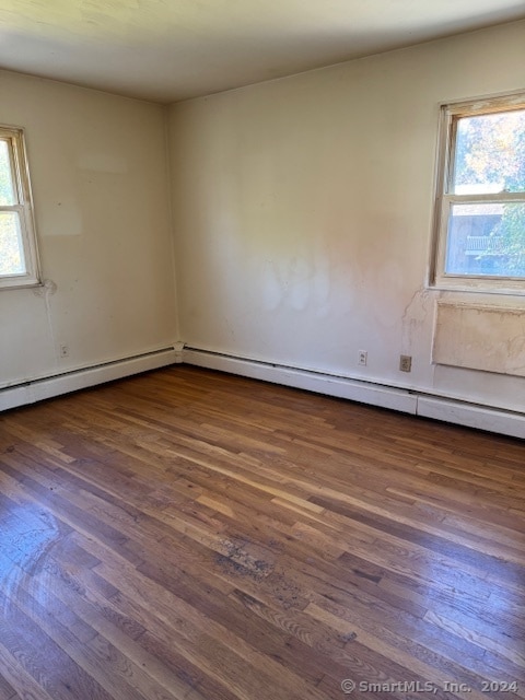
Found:
[(523, 18), (525, 0), (0, 0), (0, 68), (168, 103)]

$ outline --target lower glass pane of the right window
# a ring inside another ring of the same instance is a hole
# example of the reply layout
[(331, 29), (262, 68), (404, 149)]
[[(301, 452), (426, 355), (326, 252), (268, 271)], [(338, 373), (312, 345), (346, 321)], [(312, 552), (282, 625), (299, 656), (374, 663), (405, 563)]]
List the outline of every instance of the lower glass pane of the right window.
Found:
[(525, 277), (525, 203), (453, 205), (445, 272)]

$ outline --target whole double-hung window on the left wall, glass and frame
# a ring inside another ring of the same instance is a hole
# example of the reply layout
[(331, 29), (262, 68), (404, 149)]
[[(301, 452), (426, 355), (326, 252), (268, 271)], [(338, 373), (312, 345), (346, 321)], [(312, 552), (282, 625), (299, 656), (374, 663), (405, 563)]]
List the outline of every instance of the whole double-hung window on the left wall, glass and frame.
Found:
[(0, 289), (34, 284), (38, 260), (24, 136), (0, 127)]

